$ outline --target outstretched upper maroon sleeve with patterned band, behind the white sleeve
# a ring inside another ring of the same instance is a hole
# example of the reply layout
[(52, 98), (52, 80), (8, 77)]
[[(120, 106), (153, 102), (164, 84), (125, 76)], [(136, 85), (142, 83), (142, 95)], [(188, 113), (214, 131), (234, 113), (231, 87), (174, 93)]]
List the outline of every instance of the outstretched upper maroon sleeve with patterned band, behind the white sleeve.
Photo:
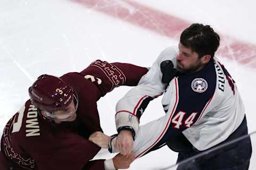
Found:
[(108, 63), (97, 60), (92, 62), (81, 74), (100, 90), (103, 97), (118, 86), (136, 86), (148, 69), (127, 63)]

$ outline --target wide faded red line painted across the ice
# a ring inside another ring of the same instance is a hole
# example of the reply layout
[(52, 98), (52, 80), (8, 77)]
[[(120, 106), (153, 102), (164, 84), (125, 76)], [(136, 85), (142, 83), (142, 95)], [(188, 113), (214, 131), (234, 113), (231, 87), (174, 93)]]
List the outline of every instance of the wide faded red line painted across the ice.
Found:
[[(175, 40), (179, 40), (181, 31), (191, 24), (188, 21), (129, 0), (71, 1)], [(256, 67), (256, 46), (230, 36), (221, 35), (221, 46), (217, 55)]]

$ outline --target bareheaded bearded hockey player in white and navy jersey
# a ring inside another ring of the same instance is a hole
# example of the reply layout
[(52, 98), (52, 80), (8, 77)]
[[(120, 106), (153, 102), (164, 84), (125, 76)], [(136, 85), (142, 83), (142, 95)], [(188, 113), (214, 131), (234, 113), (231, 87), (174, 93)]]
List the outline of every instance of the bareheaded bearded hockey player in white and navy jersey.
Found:
[[(98, 133), (91, 141), (101, 147), (110, 142), (111, 152), (134, 152), (137, 158), (167, 144), (179, 152), (178, 163), (248, 134), (235, 81), (214, 57), (219, 41), (209, 25), (192, 24), (185, 29), (179, 49), (164, 49), (138, 86), (118, 101), (118, 135)], [(139, 126), (149, 101), (162, 94), (166, 115)], [(246, 138), (178, 169), (191, 169), (191, 164), (194, 170), (248, 169), (251, 152), (251, 140)]]

